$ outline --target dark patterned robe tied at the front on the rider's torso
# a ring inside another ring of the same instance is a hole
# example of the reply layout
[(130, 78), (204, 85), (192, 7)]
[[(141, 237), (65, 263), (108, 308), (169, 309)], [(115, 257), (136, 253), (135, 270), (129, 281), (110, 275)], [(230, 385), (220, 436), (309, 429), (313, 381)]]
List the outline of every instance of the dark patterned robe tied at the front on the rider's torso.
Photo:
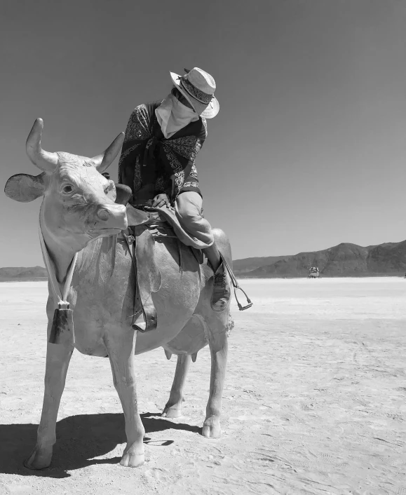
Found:
[(154, 196), (166, 193), (173, 204), (184, 191), (201, 195), (195, 160), (207, 126), (199, 118), (165, 139), (155, 114), (160, 104), (139, 105), (131, 114), (119, 161), (119, 183), (133, 189), (134, 198), (149, 184)]

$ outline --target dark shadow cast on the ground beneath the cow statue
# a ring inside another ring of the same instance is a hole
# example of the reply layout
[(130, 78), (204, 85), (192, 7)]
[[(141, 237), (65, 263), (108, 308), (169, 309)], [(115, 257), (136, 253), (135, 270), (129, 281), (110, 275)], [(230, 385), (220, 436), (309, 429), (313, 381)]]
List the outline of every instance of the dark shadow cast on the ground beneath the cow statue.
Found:
[[(171, 445), (173, 440), (163, 435), (151, 440), (149, 433), (177, 429), (201, 433), (198, 426), (172, 423), (160, 417), (160, 413), (141, 414), (145, 428), (144, 443)], [(121, 457), (93, 459), (111, 452), (116, 445), (126, 443), (123, 414), (79, 414), (69, 416), (56, 425), (57, 442), (53, 448), (53, 459), (49, 468), (30, 470), (23, 461), (32, 452), (36, 442), (35, 424), (0, 424), (0, 473), (22, 476), (68, 477), (67, 471), (92, 466), (93, 464), (116, 464)]]

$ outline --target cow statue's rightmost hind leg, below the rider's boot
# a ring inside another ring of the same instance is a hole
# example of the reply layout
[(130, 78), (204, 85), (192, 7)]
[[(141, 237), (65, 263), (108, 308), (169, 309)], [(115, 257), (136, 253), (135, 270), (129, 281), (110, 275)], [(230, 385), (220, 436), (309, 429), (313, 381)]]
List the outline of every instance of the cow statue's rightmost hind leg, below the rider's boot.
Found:
[(222, 393), (227, 365), (226, 322), (228, 312), (213, 314), (208, 322), (208, 337), (211, 354), (210, 395), (206, 407), (206, 418), (202, 435), (208, 438), (219, 438), (221, 435), (220, 416), (222, 414)]

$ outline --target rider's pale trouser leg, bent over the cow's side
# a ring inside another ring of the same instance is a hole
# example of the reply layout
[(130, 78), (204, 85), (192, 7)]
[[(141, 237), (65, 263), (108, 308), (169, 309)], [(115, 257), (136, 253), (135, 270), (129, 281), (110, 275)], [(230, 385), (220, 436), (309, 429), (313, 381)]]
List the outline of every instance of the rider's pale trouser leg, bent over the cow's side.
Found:
[(191, 236), (209, 246), (214, 243), (212, 228), (203, 217), (203, 199), (194, 191), (185, 191), (176, 198), (175, 212), (180, 224)]

